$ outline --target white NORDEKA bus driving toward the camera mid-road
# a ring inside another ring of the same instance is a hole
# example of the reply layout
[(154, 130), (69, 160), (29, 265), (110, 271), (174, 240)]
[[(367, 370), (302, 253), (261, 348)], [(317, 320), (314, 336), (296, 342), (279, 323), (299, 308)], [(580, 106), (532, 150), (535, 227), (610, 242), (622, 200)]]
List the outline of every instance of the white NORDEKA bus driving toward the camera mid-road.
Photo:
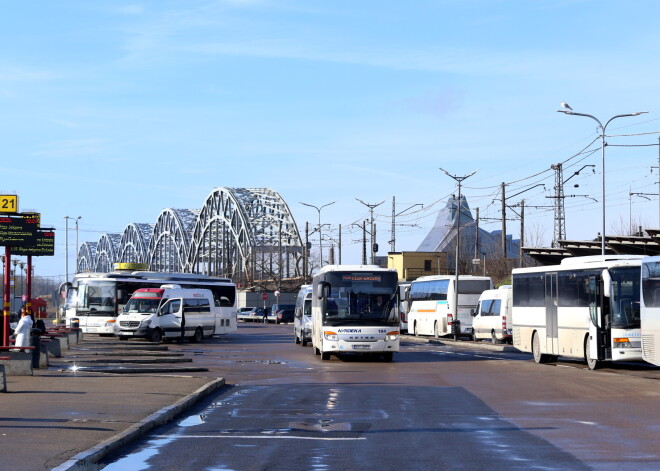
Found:
[(312, 282), (314, 353), (382, 355), (399, 351), (396, 270), (376, 265), (327, 265)]

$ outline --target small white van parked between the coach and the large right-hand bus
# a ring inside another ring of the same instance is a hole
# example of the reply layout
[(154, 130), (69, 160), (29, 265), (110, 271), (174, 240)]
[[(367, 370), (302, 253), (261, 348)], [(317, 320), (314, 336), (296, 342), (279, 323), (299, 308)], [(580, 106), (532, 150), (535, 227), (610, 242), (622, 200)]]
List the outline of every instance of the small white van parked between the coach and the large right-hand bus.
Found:
[(512, 343), (511, 285), (481, 293), (476, 311), (472, 312), (474, 340), (490, 339), (493, 343)]

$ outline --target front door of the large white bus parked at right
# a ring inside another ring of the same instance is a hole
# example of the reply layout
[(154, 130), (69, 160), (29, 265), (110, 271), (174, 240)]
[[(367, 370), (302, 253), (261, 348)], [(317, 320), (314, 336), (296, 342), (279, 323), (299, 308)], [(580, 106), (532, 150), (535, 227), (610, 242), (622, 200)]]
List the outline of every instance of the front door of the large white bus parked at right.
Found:
[[(589, 317), (589, 358), (592, 361), (609, 360), (612, 357), (609, 298), (603, 296), (603, 279), (598, 275), (589, 276)], [(590, 363), (589, 367), (595, 368), (596, 363), (593, 366)]]

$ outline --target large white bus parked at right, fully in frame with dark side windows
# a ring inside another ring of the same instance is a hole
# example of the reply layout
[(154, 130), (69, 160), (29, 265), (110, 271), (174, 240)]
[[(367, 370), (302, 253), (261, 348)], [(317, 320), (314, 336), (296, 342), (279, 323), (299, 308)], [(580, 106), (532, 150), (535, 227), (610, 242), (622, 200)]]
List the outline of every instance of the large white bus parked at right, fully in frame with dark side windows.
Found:
[(513, 270), (513, 345), (537, 363), (581, 358), (642, 359), (642, 256), (572, 257), (560, 265)]

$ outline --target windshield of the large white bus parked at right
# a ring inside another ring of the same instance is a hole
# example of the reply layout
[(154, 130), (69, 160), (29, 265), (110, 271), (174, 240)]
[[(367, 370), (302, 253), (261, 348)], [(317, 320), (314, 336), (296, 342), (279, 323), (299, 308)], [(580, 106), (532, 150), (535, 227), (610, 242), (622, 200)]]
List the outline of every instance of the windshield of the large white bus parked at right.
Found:
[(639, 328), (639, 267), (611, 268), (612, 327)]

